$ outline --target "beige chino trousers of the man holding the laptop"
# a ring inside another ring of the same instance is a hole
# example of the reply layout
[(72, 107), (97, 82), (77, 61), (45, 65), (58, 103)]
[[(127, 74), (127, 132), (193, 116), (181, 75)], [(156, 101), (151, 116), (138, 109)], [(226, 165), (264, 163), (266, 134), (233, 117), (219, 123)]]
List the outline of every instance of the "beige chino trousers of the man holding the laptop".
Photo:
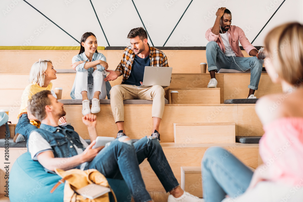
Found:
[(151, 116), (162, 118), (165, 104), (165, 92), (159, 85), (137, 88), (137, 86), (120, 84), (112, 87), (111, 107), (115, 123), (124, 121), (123, 100), (152, 100)]

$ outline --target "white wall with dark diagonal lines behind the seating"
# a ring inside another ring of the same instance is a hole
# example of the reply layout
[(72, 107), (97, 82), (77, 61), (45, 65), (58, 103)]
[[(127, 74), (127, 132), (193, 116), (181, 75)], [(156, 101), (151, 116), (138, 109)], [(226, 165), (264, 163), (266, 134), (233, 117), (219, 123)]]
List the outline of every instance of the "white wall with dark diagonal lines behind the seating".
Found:
[[(191, 0), (134, 0), (154, 46), (163, 46)], [(89, 0), (28, 0), (80, 41), (86, 31), (108, 46)], [(232, 13), (232, 25), (241, 27), (252, 41), (283, 0), (193, 0), (165, 46), (206, 46), (205, 31), (212, 27), (218, 7)], [(131, 0), (92, 0), (111, 46), (128, 44), (126, 36), (142, 22)], [(1, 46), (75, 46), (73, 38), (22, 0), (0, 1)], [(262, 46), (266, 33), (289, 21), (303, 23), (302, 0), (287, 0), (256, 38)], [(150, 43), (150, 39), (149, 39)], [(151, 43), (150, 43), (151, 44)]]

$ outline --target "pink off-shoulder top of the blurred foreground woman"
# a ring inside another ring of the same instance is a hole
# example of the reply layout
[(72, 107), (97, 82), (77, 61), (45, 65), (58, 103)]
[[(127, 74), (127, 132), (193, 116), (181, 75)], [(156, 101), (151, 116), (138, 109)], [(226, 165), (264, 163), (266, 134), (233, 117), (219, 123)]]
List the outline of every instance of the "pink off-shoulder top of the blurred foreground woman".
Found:
[(303, 179), (303, 118), (277, 119), (264, 127), (259, 151), (264, 165), (260, 172), (275, 182), (291, 185)]

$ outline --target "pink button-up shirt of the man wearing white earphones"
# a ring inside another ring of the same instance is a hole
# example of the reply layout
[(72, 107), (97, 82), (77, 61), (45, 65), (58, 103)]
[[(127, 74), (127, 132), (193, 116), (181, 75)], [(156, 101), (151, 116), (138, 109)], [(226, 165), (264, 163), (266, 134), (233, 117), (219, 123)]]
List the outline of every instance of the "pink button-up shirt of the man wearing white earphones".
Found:
[[(221, 36), (212, 33), (211, 29), (212, 27), (206, 31), (205, 38), (208, 41), (216, 41), (219, 47), (221, 48), (221, 50), (223, 51), (223, 53), (225, 53), (225, 46), (223, 44)], [(251, 45), (251, 43), (248, 41), (244, 31), (241, 28), (235, 25), (230, 25), (228, 32), (229, 32), (229, 36), (228, 36), (229, 44), (231, 45), (231, 49), (235, 52), (237, 57), (244, 57), (239, 47), (239, 41), (243, 46), (244, 50), (248, 53), (248, 55), (252, 49), (257, 50), (257, 48)]]

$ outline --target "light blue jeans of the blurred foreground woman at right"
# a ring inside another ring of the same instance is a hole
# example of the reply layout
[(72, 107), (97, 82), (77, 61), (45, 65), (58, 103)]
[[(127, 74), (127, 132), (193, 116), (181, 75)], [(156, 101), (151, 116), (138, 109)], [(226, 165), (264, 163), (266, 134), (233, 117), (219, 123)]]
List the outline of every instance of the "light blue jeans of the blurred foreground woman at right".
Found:
[(238, 197), (245, 192), (253, 172), (229, 151), (221, 147), (208, 148), (202, 162), (203, 198), (206, 202), (221, 202), (225, 195)]

